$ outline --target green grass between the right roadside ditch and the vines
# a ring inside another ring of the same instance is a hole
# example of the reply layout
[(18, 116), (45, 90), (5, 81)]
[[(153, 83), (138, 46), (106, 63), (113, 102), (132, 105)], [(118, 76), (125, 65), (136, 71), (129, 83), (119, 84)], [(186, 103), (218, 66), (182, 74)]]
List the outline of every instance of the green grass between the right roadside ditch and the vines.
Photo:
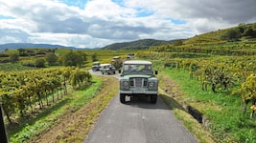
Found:
[[(165, 69), (165, 74), (175, 80), (184, 96), (182, 102), (193, 106), (210, 120), (206, 129), (218, 142), (256, 142), (256, 121), (249, 119), (249, 112), (241, 111), (241, 99), (229, 92), (214, 93), (200, 90), (200, 82), (191, 80), (188, 72)], [(249, 111), (249, 110), (248, 110)]]

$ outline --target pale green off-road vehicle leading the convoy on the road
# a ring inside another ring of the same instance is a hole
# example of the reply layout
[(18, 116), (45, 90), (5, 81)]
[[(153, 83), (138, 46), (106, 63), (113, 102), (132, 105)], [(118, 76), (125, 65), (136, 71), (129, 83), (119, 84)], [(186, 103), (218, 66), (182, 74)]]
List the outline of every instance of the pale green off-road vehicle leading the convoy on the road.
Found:
[(126, 96), (146, 95), (150, 96), (151, 103), (156, 103), (158, 79), (154, 74), (157, 71), (153, 72), (150, 61), (125, 61), (119, 78), (120, 102), (126, 103)]

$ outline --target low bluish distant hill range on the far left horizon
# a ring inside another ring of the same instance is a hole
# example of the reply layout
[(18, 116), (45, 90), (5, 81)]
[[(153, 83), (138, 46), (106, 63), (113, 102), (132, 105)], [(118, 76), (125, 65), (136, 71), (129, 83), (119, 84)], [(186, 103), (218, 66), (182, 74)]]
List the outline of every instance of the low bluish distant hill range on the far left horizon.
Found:
[[(66, 47), (61, 45), (52, 45), (52, 44), (33, 44), (33, 43), (8, 43), (0, 45), (0, 51), (16, 50), (16, 49), (27, 49), (27, 48), (49, 48), (49, 49), (71, 49), (71, 50), (85, 50), (75, 47)], [(86, 49), (90, 50), (90, 49)]]

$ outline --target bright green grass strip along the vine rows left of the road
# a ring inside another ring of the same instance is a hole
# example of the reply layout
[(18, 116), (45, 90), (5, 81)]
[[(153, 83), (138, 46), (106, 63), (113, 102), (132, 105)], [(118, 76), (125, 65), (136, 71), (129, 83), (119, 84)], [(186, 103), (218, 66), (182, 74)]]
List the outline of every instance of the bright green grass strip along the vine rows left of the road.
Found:
[(76, 112), (86, 105), (101, 88), (102, 82), (102, 79), (95, 77), (89, 87), (64, 95), (53, 107), (46, 109), (35, 118), (22, 122), (18, 128), (8, 131), (9, 141), (26, 142), (36, 134), (57, 125), (62, 117), (70, 112)]

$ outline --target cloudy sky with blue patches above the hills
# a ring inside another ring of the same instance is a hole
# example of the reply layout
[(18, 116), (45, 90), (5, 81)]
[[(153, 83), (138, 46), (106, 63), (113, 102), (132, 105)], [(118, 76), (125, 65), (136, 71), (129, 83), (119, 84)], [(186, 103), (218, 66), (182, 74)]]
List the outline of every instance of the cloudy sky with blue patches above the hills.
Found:
[(174, 40), (256, 22), (256, 0), (0, 0), (0, 44)]

